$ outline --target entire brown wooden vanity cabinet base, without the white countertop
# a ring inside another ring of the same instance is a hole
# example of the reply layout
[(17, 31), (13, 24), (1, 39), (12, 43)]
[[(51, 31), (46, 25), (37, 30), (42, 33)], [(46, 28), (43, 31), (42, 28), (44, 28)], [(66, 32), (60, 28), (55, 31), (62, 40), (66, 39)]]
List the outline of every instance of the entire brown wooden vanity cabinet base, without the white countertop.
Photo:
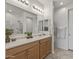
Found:
[(6, 59), (44, 59), (51, 52), (50, 37), (6, 50)]

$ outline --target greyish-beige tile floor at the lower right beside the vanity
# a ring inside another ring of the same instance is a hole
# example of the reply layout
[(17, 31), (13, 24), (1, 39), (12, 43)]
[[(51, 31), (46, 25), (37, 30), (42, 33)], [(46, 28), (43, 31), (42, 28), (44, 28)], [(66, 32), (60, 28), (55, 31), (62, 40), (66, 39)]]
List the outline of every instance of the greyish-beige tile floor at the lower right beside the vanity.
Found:
[(55, 49), (55, 54), (50, 54), (45, 59), (73, 59), (73, 52), (63, 49)]

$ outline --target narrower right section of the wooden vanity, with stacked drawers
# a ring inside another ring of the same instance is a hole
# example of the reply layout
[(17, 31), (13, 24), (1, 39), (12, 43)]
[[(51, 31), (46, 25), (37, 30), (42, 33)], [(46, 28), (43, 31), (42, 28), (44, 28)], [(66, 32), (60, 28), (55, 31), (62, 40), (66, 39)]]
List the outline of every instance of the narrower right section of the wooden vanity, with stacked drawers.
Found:
[(51, 39), (40, 40), (40, 59), (44, 59), (51, 52)]

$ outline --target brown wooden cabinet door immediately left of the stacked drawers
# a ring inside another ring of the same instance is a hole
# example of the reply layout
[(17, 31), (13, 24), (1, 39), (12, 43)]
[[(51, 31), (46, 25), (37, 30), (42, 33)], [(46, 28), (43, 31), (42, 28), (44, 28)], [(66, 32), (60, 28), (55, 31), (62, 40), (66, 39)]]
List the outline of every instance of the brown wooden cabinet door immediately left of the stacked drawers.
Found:
[(39, 59), (39, 46), (35, 45), (28, 49), (28, 59)]

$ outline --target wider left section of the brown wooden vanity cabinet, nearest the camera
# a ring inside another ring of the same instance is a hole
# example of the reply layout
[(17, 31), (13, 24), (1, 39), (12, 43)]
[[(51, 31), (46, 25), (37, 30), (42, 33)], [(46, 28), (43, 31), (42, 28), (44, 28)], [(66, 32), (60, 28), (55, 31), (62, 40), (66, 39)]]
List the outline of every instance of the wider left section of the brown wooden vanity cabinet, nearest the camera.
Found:
[(39, 59), (39, 42), (7, 50), (6, 59)]

